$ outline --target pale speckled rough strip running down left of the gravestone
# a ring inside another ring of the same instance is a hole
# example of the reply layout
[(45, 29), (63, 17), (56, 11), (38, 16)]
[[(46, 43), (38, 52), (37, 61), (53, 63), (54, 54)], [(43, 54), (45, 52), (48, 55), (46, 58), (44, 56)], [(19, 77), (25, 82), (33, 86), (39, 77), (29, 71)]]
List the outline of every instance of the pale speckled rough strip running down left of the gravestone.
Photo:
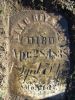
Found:
[[(6, 13), (6, 3), (0, 0), (0, 99), (8, 95), (8, 63), (9, 63), (9, 21)], [(6, 100), (6, 99), (5, 99)]]

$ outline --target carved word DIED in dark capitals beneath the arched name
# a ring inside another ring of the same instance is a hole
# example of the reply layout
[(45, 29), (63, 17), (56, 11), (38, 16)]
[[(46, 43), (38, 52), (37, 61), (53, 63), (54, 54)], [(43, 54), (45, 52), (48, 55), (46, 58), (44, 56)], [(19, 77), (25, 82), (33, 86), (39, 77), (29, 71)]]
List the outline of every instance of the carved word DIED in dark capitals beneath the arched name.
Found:
[(31, 36), (31, 37), (21, 37), (21, 44), (36, 44), (36, 45), (47, 45), (47, 44), (54, 44), (55, 38), (54, 37), (44, 37), (44, 36)]

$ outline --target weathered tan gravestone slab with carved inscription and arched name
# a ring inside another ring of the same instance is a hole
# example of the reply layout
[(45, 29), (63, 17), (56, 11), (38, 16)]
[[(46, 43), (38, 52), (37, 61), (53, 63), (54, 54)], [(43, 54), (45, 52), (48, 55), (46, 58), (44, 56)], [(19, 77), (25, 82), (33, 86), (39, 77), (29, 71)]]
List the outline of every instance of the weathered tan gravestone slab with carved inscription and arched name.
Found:
[(69, 70), (66, 20), (44, 11), (10, 18), (10, 93), (35, 99), (65, 91)]

